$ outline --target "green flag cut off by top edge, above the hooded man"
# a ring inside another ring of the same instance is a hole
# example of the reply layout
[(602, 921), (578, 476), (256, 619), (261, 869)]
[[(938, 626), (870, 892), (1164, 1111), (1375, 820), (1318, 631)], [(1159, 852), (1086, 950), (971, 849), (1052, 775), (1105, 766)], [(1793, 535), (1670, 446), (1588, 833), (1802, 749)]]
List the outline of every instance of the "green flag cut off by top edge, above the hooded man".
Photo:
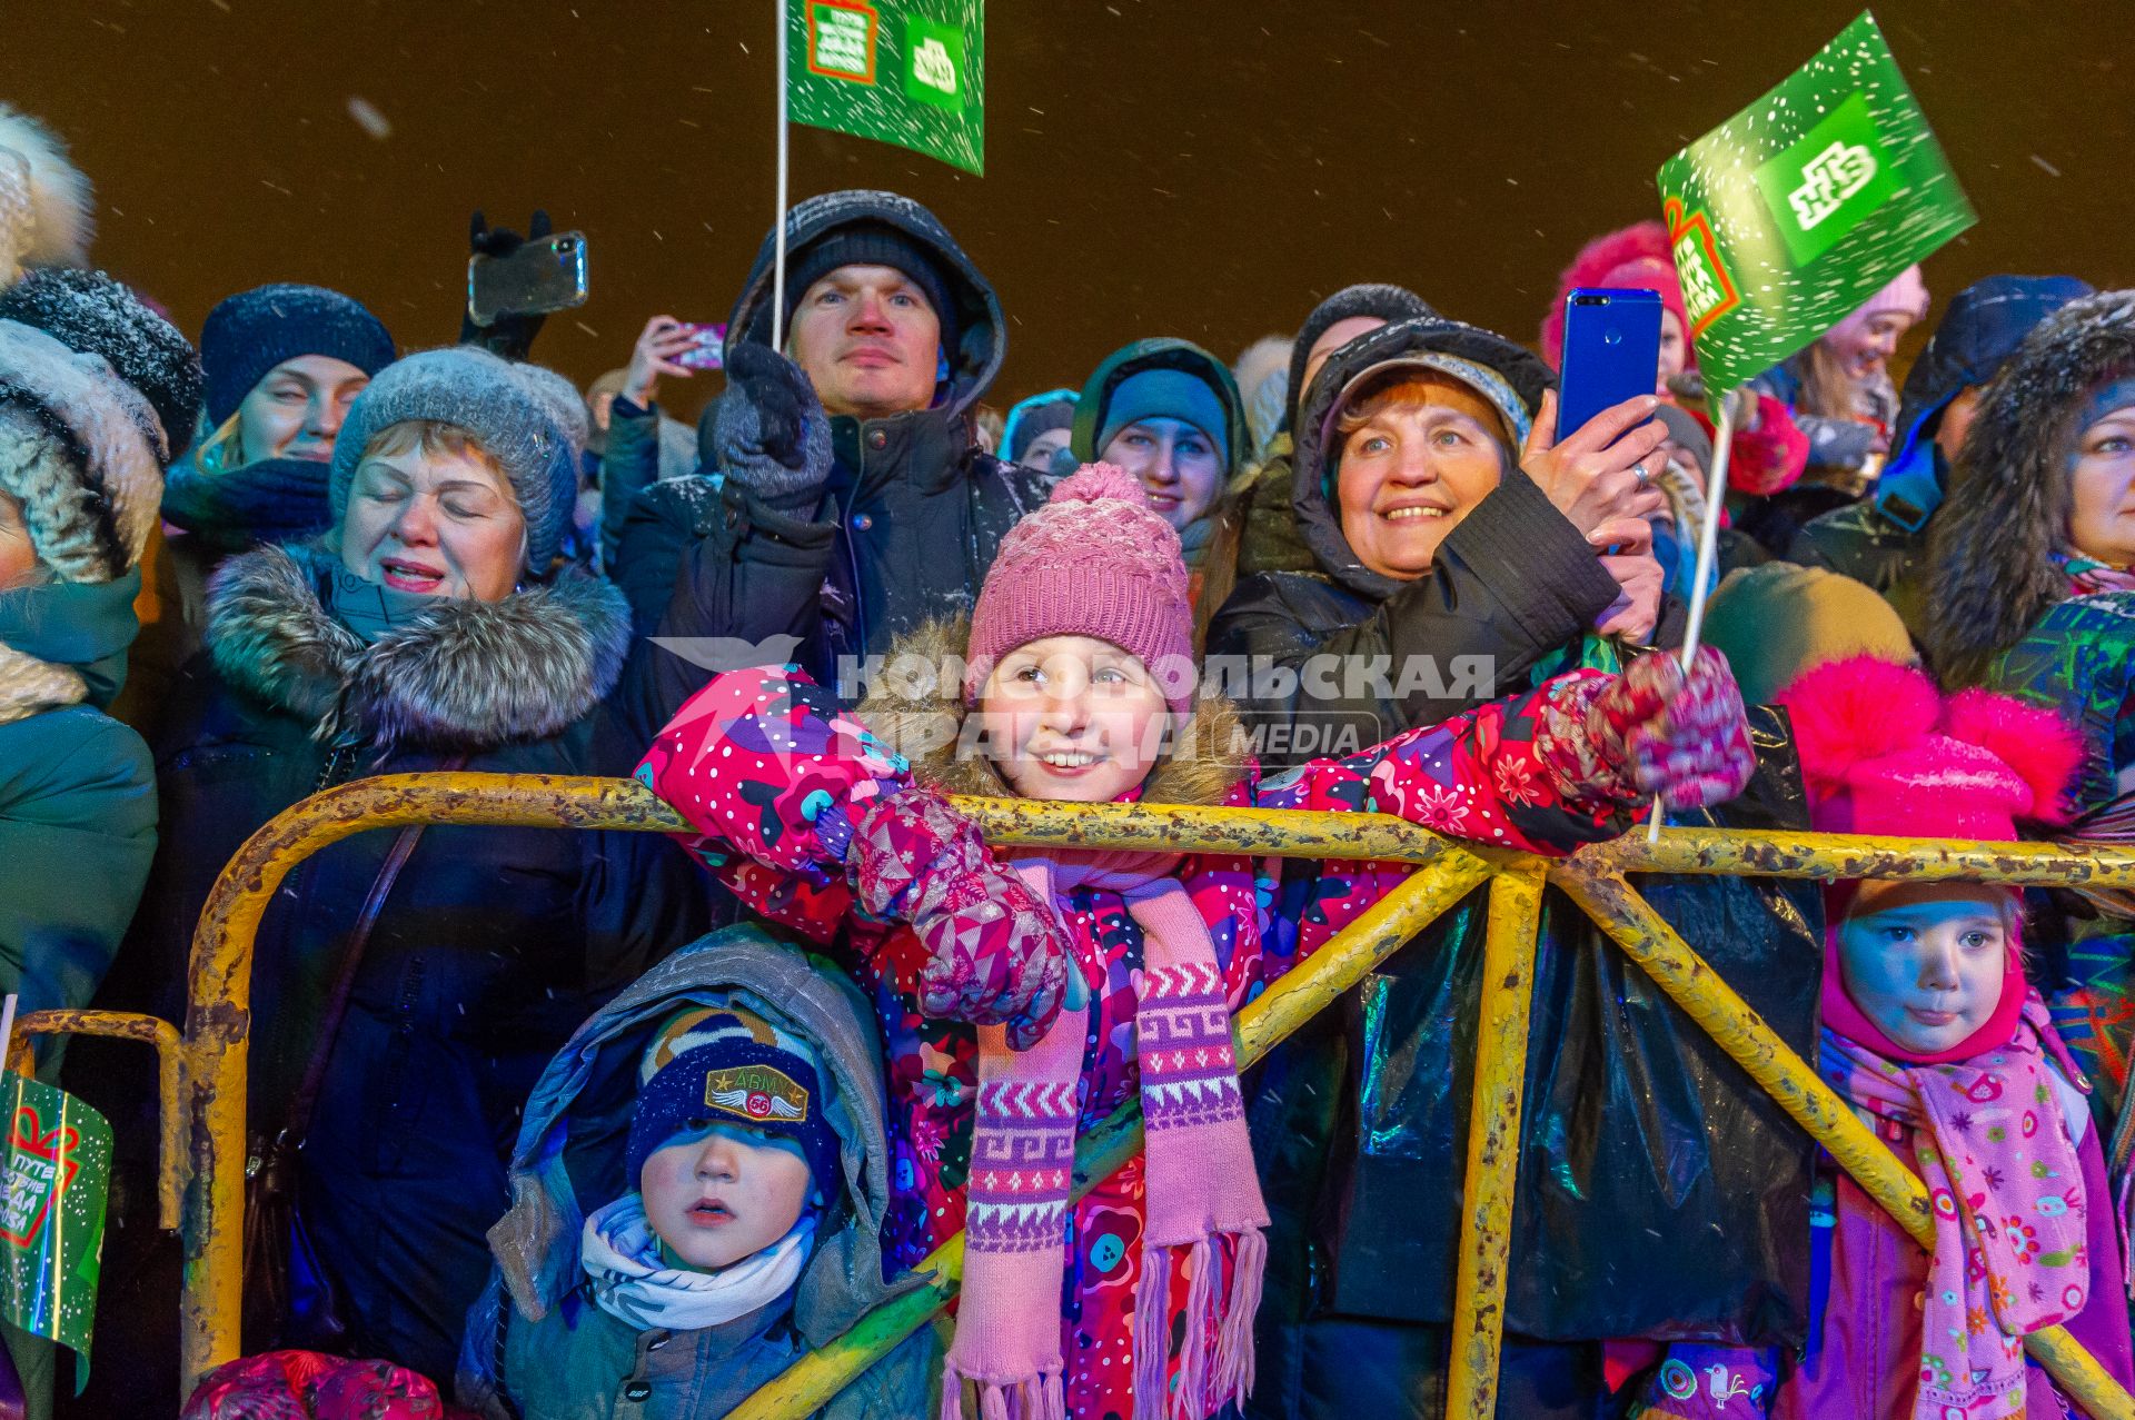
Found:
[(786, 0), (792, 117), (986, 171), (986, 0)]

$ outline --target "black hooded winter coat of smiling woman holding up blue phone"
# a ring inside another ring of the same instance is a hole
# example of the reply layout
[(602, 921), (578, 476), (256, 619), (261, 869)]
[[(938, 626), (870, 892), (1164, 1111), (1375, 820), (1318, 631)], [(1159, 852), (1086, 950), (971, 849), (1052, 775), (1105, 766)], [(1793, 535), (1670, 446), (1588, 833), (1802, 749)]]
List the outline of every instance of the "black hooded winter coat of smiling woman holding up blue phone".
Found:
[[(1396, 685), (1403, 658), (1435, 658), (1439, 683), (1418, 677), (1409, 694), (1349, 694), (1337, 664), (1334, 685), (1300, 677), (1285, 694), (1247, 694), (1266, 760), (1343, 752), (1328, 730), (1371, 745), (1524, 690), (1537, 664), (1573, 647), (1616, 598), (1593, 549), (1518, 472), (1448, 534), (1428, 577), (1396, 583), (1358, 566), (1324, 495), (1317, 431), (1356, 374), (1418, 348), (1486, 363), (1529, 408), (1539, 401), (1533, 357), (1469, 327), (1388, 327), (1337, 352), (1296, 425), (1292, 506), (1319, 572), (1240, 583), (1211, 628), (1211, 658), (1268, 656), (1294, 668), (1313, 656), (1390, 658)], [(1674, 609), (1663, 609), (1657, 641), (1678, 636)], [(1806, 829), (1785, 722), (1759, 711), (1753, 730), (1759, 775), (1721, 816)], [(1302, 743), (1307, 735), (1317, 743)], [(1648, 888), (1796, 1051), (1815, 1048), (1815, 884)], [(1245, 1407), (1255, 1420), (1445, 1414), (1482, 937), (1477, 893), (1247, 1083), (1272, 1215), (1260, 1384)], [(1527, 1070), (1512, 1243), (1520, 1266), (1507, 1288), (1499, 1416), (1606, 1414), (1591, 1345), (1606, 1337), (1798, 1332), (1806, 1266), (1793, 1262), (1806, 1249), (1787, 1245), (1808, 1226), (1804, 1136), (1554, 890)], [(1652, 1249), (1648, 1228), (1680, 1234), (1672, 1260)]]

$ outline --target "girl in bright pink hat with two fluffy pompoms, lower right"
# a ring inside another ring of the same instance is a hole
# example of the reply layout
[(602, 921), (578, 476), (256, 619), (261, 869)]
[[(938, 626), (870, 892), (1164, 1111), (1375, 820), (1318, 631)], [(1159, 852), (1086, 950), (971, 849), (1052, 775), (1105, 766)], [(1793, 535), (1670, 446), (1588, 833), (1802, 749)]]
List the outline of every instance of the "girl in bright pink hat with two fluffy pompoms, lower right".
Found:
[[(1781, 692), (1823, 833), (2009, 841), (2058, 822), (2082, 758), (2052, 711), (1943, 700), (1911, 666), (1855, 658)], [(2126, 1179), (2109, 1179), (2090, 1085), (2024, 976), (2022, 903), (1977, 882), (1825, 893), (1819, 1072), (1934, 1200), (1934, 1249), (1836, 1166), (1810, 1238), (1802, 1358), (1678, 1345), (1646, 1416), (1998, 1420), (2075, 1414), (2024, 1358), (2069, 1332), (2122, 1386)]]

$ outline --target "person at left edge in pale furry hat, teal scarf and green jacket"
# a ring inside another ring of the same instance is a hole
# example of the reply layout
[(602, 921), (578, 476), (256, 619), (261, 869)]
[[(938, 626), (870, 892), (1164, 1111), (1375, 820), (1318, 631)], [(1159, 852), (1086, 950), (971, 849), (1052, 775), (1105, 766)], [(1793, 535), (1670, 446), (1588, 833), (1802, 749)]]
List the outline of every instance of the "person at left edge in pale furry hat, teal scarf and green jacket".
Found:
[[(100, 357), (0, 320), (0, 991), (21, 1010), (90, 1004), (156, 852), (147, 745), (105, 707), (162, 457), (156, 414)], [(0, 1330), (49, 1414), (49, 1343)]]

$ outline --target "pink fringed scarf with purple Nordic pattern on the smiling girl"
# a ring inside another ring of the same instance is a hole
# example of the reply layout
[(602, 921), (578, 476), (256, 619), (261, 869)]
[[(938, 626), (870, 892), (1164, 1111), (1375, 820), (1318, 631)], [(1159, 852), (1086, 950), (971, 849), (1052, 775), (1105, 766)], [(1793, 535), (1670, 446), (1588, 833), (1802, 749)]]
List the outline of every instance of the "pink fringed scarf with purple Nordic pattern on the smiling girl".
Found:
[[(1208, 925), (1172, 878), (1176, 861), (1146, 854), (1018, 858), (1048, 901), (1074, 886), (1119, 893), (1142, 929), (1134, 1012), (1142, 1074), (1142, 1275), (1134, 1298), (1134, 1418), (1202, 1420), (1253, 1388), (1253, 1311), (1266, 1266), (1268, 1209), (1253, 1172), (1223, 972)], [(1070, 969), (1078, 969), (1070, 965)], [(978, 1031), (978, 1123), (965, 1211), (963, 1303), (942, 1382), (942, 1418), (963, 1414), (978, 1382), (984, 1420), (1063, 1420), (1061, 1268), (1089, 1008), (1061, 1010), (1033, 1048)], [(1219, 1238), (1234, 1245), (1217, 1298)], [(1185, 1352), (1174, 1392), (1172, 1256), (1185, 1253)], [(1215, 1330), (1215, 1356), (1208, 1332)]]

